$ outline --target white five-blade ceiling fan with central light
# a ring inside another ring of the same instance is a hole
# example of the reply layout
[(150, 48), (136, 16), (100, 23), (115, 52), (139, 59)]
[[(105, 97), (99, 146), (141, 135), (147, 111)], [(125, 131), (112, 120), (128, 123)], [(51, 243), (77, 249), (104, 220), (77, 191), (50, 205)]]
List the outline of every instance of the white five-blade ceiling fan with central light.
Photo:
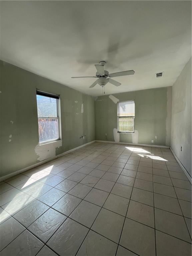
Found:
[(104, 87), (107, 83), (111, 83), (115, 86), (121, 85), (121, 83), (111, 79), (111, 77), (116, 77), (116, 76), (128, 76), (128, 75), (134, 75), (135, 71), (134, 70), (128, 70), (128, 71), (122, 71), (122, 72), (117, 72), (117, 73), (111, 73), (109, 74), (108, 71), (104, 70), (104, 65), (105, 61), (100, 61), (98, 65), (95, 65), (97, 72), (96, 76), (73, 76), (71, 78), (98, 78), (89, 88), (94, 87), (96, 84), (99, 84), (101, 87)]

